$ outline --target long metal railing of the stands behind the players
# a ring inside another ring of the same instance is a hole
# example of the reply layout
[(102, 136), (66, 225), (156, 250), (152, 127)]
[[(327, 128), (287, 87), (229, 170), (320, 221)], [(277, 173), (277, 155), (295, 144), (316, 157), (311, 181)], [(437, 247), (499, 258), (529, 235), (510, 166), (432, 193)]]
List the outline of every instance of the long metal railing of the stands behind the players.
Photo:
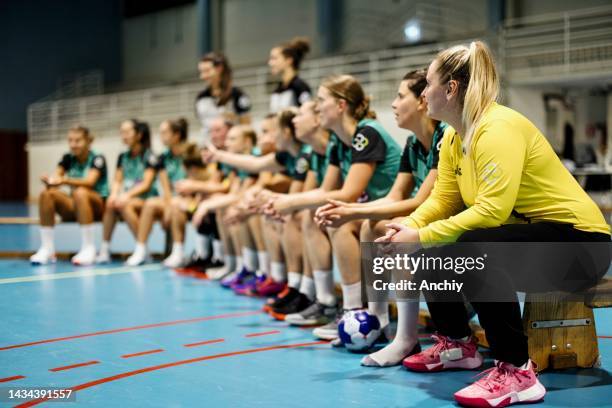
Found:
[[(593, 75), (612, 77), (612, 7), (507, 20), (489, 41), (498, 55), (505, 86)], [(462, 41), (465, 42), (465, 41)], [(451, 44), (363, 52), (307, 60), (301, 76), (318, 84), (330, 74), (347, 73), (364, 84), (374, 104), (388, 105), (398, 79), (408, 70), (425, 67)], [(265, 65), (237, 69), (234, 82), (253, 103), (253, 115), (263, 116), (273, 81)], [(203, 88), (200, 81), (74, 98), (44, 100), (28, 108), (30, 143), (64, 137), (74, 123), (85, 123), (97, 137), (116, 136), (125, 118), (150, 123), (184, 116), (194, 119), (193, 102)], [(191, 121), (195, 130), (199, 124)]]

